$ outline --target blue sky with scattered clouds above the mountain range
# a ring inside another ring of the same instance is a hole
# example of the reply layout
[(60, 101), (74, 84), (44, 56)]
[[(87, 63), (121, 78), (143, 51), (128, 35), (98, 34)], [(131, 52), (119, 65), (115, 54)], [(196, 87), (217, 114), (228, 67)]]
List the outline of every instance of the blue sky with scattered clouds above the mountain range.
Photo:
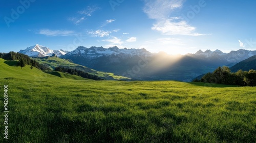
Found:
[(256, 50), (255, 6), (252, 0), (3, 0), (0, 52), (35, 44), (168, 54)]

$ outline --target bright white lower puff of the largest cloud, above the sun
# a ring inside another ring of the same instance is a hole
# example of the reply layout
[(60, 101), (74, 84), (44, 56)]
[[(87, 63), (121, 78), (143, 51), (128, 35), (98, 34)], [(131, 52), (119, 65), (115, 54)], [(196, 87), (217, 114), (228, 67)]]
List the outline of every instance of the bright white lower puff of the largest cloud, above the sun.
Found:
[(159, 21), (153, 25), (152, 30), (160, 31), (164, 35), (191, 35), (201, 36), (205, 34), (194, 33), (195, 27), (191, 27), (186, 21), (176, 21), (177, 17), (166, 19), (165, 21)]

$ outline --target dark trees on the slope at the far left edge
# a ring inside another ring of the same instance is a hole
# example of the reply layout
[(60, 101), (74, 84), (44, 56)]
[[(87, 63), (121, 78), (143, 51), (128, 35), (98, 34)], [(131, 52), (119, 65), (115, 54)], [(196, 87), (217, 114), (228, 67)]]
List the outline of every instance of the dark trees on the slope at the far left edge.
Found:
[(0, 53), (0, 58), (5, 60), (13, 60), (17, 61), (17, 65), (20, 67), (24, 67), (25, 65), (31, 65), (31, 69), (34, 67), (41, 69), (41, 70), (49, 70), (49, 68), (44, 64), (39, 64), (33, 59), (30, 59), (28, 55), (16, 53), (16, 52), (9, 52), (9, 53)]

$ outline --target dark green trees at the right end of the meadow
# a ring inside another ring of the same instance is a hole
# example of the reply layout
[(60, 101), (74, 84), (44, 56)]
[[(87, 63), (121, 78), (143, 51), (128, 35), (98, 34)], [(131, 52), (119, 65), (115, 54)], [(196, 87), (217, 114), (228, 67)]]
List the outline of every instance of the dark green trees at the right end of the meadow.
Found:
[(219, 83), (239, 86), (256, 86), (256, 70), (238, 70), (232, 73), (229, 67), (218, 67), (214, 72), (205, 74), (194, 82)]

